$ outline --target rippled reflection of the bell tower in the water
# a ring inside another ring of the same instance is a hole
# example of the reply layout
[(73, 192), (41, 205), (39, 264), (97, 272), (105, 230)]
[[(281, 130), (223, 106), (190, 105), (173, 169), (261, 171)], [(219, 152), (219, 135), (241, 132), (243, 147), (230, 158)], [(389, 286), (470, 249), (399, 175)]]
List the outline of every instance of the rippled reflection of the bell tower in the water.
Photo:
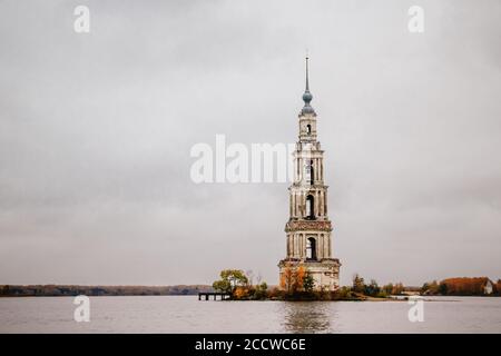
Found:
[(283, 306), (283, 326), (285, 333), (330, 333), (331, 317), (335, 317), (331, 303), (325, 301), (285, 301)]

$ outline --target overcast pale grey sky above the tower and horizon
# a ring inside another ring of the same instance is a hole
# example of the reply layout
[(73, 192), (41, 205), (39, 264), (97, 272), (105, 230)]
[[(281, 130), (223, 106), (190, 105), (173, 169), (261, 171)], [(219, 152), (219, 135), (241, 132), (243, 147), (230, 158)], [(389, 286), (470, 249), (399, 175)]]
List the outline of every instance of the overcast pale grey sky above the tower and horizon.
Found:
[(500, 18), (499, 0), (0, 1), (0, 284), (276, 284), (288, 185), (195, 185), (189, 149), (295, 141), (306, 48), (342, 283), (501, 277)]

